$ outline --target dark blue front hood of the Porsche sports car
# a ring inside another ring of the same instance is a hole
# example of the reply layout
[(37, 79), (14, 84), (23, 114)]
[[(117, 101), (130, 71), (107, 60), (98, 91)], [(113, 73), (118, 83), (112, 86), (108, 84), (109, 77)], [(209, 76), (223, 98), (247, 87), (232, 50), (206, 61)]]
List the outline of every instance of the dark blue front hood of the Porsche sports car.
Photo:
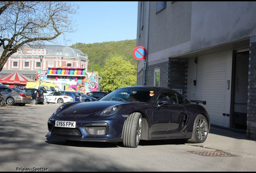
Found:
[(131, 102), (120, 101), (94, 101), (94, 102), (78, 102), (72, 106), (64, 108), (59, 115), (93, 115), (105, 110), (113, 105), (126, 105)]

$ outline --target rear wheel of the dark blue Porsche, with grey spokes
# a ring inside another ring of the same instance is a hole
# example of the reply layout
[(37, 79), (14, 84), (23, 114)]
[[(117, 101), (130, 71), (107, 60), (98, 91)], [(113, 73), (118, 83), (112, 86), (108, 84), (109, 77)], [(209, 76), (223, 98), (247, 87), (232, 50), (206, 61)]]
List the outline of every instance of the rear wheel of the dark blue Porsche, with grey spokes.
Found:
[(206, 140), (208, 133), (208, 121), (204, 115), (199, 114), (195, 118), (192, 138), (188, 139), (188, 143), (203, 143)]

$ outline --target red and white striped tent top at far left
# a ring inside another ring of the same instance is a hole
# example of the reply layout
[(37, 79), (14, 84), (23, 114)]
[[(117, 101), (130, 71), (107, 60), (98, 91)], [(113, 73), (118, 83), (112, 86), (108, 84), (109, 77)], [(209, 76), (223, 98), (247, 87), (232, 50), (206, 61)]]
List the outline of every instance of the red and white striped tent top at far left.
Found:
[(24, 76), (22, 74), (14, 72), (7, 76), (1, 77), (0, 82), (2, 84), (23, 84), (23, 85), (25, 85), (25, 84), (27, 84), (27, 82), (35, 82), (35, 81), (27, 76)]

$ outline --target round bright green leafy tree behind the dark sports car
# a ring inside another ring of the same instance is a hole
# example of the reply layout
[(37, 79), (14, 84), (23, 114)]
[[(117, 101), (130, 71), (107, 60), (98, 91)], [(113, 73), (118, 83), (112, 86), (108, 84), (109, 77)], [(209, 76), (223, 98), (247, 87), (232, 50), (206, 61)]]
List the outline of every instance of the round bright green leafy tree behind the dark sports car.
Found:
[(101, 73), (101, 90), (114, 91), (121, 88), (122, 76), (124, 76), (124, 87), (136, 85), (136, 70), (129, 61), (124, 60), (121, 56), (107, 59)]

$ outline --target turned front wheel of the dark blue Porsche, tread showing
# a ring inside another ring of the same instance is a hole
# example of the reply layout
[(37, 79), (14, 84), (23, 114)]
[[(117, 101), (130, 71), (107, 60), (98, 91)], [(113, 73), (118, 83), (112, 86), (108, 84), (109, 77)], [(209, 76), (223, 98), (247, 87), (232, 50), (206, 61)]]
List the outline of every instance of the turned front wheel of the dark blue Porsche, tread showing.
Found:
[(124, 147), (136, 148), (140, 142), (142, 127), (142, 115), (132, 113), (124, 125), (123, 145)]

